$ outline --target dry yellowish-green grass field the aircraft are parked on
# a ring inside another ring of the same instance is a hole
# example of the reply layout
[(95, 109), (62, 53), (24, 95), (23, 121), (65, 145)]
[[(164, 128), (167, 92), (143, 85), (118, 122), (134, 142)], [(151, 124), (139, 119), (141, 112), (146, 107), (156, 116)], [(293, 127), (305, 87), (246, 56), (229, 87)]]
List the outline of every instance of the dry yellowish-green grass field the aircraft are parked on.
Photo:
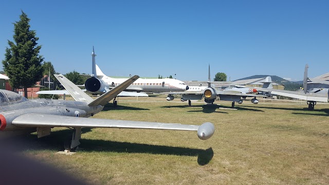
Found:
[(109, 104), (94, 118), (212, 122), (215, 134), (203, 141), (196, 132), (84, 129), (81, 150), (65, 156), (54, 153), (70, 132), (54, 128), (44, 138), (29, 136), (24, 154), (92, 184), (329, 183), (329, 104), (309, 111), (300, 102), (246, 101), (236, 104), (237, 110), (205, 111), (203, 102), (189, 107), (163, 96), (134, 100), (119, 98), (117, 108)]

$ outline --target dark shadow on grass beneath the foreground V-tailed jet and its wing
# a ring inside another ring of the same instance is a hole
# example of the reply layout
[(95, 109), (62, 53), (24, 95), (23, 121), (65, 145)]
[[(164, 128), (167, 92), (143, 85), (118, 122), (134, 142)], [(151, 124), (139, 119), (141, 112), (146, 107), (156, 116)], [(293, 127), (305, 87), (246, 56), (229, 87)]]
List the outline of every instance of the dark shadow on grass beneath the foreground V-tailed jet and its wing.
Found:
[[(90, 132), (90, 128), (82, 128), (82, 133)], [(67, 136), (71, 136), (71, 130), (60, 130), (51, 132), (51, 135), (37, 138), (35, 134), (16, 137), (12, 140), (12, 145), (16, 151), (27, 150), (50, 150), (63, 151), (64, 141)], [(178, 156), (198, 156), (199, 165), (205, 165), (213, 157), (213, 151), (210, 147), (207, 150), (191, 149), (187, 147), (174, 147), (163, 145), (140, 144), (130, 142), (105, 141), (93, 139), (80, 139), (81, 151), (84, 152), (118, 152), (118, 153), (147, 153), (147, 154), (165, 154)], [(79, 152), (79, 150), (78, 150)]]

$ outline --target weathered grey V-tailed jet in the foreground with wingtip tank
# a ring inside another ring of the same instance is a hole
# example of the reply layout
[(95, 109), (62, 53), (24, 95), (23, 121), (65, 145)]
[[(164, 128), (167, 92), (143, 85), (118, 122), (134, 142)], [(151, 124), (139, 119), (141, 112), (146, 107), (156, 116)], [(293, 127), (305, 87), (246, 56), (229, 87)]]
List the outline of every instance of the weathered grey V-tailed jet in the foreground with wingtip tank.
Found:
[(64, 147), (67, 150), (75, 150), (80, 144), (82, 127), (197, 131), (200, 139), (208, 139), (214, 133), (214, 125), (209, 122), (198, 126), (177, 123), (88, 119), (87, 117), (99, 113), (108, 101), (116, 97), (139, 77), (133, 76), (95, 100), (63, 75), (55, 75), (55, 77), (76, 101), (28, 100), (12, 91), (0, 90), (0, 136), (36, 131), (38, 138), (40, 138), (49, 135), (52, 127), (72, 127), (74, 133), (65, 142)]

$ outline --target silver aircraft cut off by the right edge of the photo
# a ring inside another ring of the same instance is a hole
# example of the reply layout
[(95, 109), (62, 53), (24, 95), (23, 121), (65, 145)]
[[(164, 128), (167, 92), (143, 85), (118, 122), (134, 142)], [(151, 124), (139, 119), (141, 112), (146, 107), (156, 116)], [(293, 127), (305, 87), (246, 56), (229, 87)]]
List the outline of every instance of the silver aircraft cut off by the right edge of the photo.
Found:
[[(308, 104), (308, 109), (313, 110), (317, 102), (328, 102), (328, 91), (327, 89), (309, 89), (307, 90), (307, 69), (308, 65), (305, 65), (304, 70), (304, 80), (303, 80), (303, 89), (304, 91), (291, 91), (291, 90), (279, 90), (279, 89), (268, 89), (268, 88), (257, 88), (261, 91), (269, 92), (272, 95), (280, 95), (290, 98), (296, 98), (301, 100), (306, 100)], [(312, 79), (311, 81), (328, 84), (329, 82)]]

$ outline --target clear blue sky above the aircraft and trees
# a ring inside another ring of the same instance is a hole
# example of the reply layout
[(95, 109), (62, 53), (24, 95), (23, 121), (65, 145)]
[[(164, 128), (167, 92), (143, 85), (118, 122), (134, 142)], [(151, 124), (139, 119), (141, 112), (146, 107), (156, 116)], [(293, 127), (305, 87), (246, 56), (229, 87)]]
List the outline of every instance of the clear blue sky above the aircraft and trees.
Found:
[[(23, 10), (57, 72), (206, 81), (329, 72), (329, 1), (6, 1), (0, 60)], [(2, 65), (0, 66), (2, 69)]]

